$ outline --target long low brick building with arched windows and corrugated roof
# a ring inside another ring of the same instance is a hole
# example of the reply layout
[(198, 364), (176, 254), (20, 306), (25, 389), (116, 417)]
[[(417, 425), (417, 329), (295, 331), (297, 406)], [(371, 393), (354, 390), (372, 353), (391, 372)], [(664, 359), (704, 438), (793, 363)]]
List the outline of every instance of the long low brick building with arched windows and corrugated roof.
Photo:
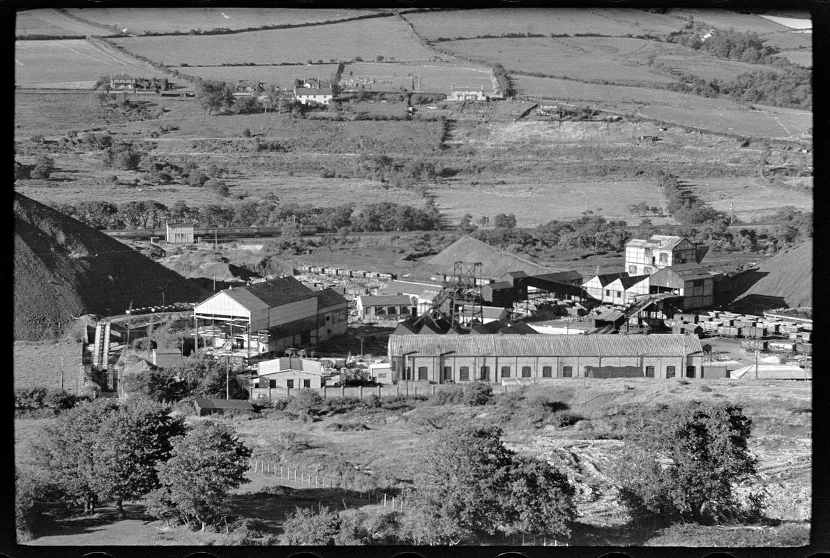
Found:
[(435, 384), (576, 378), (588, 366), (698, 378), (703, 366), (694, 335), (390, 335), (388, 355), (399, 379)]

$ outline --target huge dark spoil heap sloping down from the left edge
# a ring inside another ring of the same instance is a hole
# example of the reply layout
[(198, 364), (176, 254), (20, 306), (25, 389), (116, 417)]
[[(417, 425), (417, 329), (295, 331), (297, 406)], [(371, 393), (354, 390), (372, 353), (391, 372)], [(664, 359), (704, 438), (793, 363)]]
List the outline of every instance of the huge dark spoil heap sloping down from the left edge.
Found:
[(93, 228), (20, 194), (14, 199), (14, 336), (58, 335), (81, 314), (114, 314), (208, 293)]

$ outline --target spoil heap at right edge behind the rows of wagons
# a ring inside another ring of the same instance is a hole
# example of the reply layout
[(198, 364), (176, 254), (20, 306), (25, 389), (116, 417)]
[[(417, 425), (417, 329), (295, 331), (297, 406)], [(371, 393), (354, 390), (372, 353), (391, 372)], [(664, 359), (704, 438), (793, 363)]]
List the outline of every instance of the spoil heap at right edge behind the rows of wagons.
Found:
[(813, 241), (784, 250), (733, 277), (732, 293), (736, 311), (813, 306)]

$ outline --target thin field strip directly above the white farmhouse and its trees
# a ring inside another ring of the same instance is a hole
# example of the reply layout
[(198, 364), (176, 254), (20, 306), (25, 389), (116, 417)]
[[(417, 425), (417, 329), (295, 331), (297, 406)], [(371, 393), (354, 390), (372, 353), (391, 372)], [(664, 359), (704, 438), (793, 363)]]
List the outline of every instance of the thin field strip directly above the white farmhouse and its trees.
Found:
[(188, 76), (197, 76), (205, 79), (214, 79), (233, 83), (240, 80), (261, 81), (267, 85), (280, 86), (293, 91), (294, 80), (317, 78), (328, 83), (337, 64), (315, 64), (308, 66), (305, 63), (293, 66), (177, 66), (173, 68)]

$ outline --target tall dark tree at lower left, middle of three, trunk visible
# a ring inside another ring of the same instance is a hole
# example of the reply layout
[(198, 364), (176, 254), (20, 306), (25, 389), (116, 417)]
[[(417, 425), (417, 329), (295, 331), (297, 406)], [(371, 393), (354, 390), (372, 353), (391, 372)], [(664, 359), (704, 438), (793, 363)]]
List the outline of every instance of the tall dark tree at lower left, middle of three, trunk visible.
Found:
[(123, 502), (143, 497), (159, 485), (156, 466), (169, 458), (171, 438), (184, 433), (183, 418), (142, 399), (129, 399), (101, 423), (93, 445), (95, 492), (115, 500), (121, 519)]

